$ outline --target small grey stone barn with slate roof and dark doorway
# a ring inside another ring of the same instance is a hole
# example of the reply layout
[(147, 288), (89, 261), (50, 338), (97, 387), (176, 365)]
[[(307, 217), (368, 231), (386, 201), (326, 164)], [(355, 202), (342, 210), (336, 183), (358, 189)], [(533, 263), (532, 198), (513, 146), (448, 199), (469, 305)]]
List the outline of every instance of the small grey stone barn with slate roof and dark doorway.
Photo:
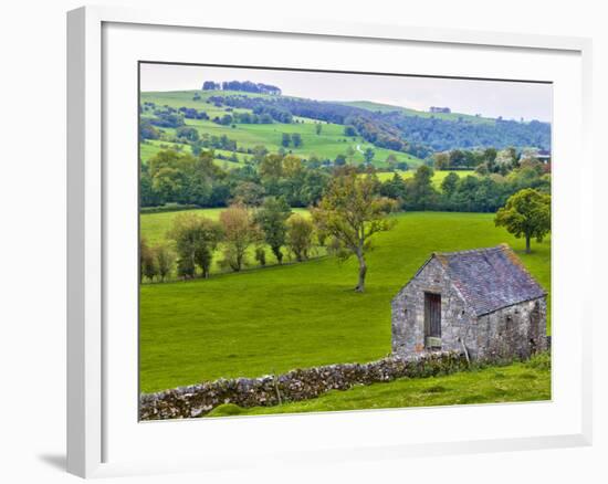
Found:
[(546, 292), (506, 244), (433, 253), (391, 305), (397, 355), (527, 358), (547, 346)]

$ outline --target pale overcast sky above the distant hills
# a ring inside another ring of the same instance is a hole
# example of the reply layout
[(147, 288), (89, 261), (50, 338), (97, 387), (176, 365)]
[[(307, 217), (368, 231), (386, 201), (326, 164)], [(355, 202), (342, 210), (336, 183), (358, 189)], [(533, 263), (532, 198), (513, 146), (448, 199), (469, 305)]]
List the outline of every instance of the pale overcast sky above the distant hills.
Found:
[(420, 111), (448, 106), (488, 117), (552, 119), (549, 84), (141, 64), (141, 91), (199, 90), (203, 81), (273, 84), (284, 95), (318, 101), (374, 101)]

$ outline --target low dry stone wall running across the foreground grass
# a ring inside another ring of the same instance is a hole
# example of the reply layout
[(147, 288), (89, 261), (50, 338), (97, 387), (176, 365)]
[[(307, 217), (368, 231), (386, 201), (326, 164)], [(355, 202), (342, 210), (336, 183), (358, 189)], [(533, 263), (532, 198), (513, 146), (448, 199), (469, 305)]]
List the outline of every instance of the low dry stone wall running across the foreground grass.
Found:
[(367, 364), (338, 364), (296, 369), (280, 376), (219, 379), (158, 393), (143, 393), (141, 420), (203, 417), (222, 403), (239, 407), (271, 407), (316, 398), (329, 390), (347, 390), (397, 378), (430, 377), (465, 369), (460, 351), (437, 351), (402, 357), (390, 356)]

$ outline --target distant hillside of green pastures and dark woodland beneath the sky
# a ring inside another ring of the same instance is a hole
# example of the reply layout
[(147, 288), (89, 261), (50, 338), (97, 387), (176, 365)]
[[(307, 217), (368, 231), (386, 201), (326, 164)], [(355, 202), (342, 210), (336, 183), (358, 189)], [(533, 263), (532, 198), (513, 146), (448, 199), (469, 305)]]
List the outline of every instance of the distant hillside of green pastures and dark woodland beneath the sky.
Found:
[[(164, 148), (211, 148), (218, 164), (238, 167), (251, 159), (256, 147), (264, 147), (325, 164), (342, 157), (354, 165), (365, 162), (365, 151), (371, 150), (368, 161), (376, 168), (388, 168), (389, 157), (392, 164), (410, 168), (434, 151), (455, 148), (551, 149), (546, 123), (431, 114), (369, 101), (318, 102), (209, 90), (143, 92), (140, 104), (141, 123), (161, 130), (158, 136), (143, 135), (143, 162)], [(176, 129), (184, 126), (197, 131), (196, 140), (178, 136)], [(298, 141), (285, 143), (285, 136)]]

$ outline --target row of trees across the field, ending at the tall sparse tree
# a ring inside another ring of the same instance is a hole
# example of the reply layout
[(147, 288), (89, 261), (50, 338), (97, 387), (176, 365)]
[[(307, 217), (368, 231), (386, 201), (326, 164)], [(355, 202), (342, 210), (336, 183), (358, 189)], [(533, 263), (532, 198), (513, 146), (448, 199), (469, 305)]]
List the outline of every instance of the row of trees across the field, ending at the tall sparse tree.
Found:
[(220, 213), (219, 221), (192, 212), (177, 214), (167, 233), (175, 253), (166, 244), (150, 248), (143, 239), (140, 274), (150, 281), (165, 281), (174, 270), (182, 278), (197, 274), (209, 277), (218, 250), (222, 254), (220, 265), (234, 272), (249, 263), (252, 248), (260, 265), (265, 265), (265, 246), (279, 264), (283, 263), (285, 248), (302, 262), (310, 257), (316, 241), (340, 260), (357, 259), (355, 290), (363, 292), (373, 235), (390, 230), (395, 222), (387, 215), (395, 208), (395, 201), (378, 193), (371, 175), (360, 177), (345, 169), (332, 179), (323, 199), (312, 208), (311, 219), (293, 213), (284, 198), (275, 197), (266, 197), (255, 209), (232, 204)]

